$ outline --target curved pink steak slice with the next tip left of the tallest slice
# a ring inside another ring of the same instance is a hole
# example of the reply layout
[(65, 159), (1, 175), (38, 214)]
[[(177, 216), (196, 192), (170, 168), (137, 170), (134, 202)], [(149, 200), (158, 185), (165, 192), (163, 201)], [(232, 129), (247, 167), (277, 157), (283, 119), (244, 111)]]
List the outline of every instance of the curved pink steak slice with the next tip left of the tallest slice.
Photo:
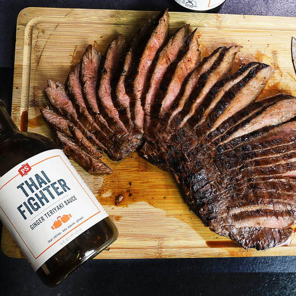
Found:
[(107, 114), (105, 119), (115, 134), (127, 132), (124, 124), (119, 118), (119, 112), (113, 104), (115, 100), (113, 79), (118, 69), (118, 63), (123, 55), (124, 49), (125, 39), (121, 34), (119, 34), (111, 41), (106, 51), (98, 89), (98, 96), (103, 107), (102, 111)]

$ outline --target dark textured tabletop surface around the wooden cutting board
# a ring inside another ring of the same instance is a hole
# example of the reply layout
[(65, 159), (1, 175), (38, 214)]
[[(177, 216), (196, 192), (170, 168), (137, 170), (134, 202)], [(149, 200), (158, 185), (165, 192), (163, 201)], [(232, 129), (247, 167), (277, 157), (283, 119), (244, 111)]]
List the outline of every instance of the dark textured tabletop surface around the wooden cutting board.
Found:
[[(0, 99), (8, 109), (16, 18), (29, 6), (155, 11), (168, 7), (182, 11), (173, 0), (0, 0)], [(296, 16), (296, 0), (226, 0), (220, 13)], [(0, 251), (0, 296), (293, 296), (294, 272), (295, 257), (91, 260), (58, 287), (49, 289), (25, 259), (11, 259)]]

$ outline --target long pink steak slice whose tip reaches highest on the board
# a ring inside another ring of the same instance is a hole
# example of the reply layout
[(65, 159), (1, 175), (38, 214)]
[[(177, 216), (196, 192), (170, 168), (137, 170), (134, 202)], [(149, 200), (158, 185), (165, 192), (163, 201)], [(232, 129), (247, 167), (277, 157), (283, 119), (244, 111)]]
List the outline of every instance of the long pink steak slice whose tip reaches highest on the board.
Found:
[[(136, 129), (142, 131), (144, 126), (144, 110), (142, 106), (142, 96), (145, 95), (145, 85), (147, 77), (151, 71), (151, 65), (156, 57), (157, 51), (162, 47), (168, 37), (169, 14), (168, 11), (161, 12), (151, 26), (152, 33), (138, 63), (134, 64), (134, 75), (130, 75), (132, 83), (130, 112), (132, 121)], [(136, 61), (135, 61), (136, 62)]]

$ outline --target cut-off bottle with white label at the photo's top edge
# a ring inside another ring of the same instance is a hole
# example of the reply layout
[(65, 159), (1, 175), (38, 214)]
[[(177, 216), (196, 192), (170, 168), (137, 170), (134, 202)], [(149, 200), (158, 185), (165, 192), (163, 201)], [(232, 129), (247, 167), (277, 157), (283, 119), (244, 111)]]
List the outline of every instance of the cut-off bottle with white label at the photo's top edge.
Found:
[(181, 6), (193, 12), (217, 13), (225, 0), (174, 0)]

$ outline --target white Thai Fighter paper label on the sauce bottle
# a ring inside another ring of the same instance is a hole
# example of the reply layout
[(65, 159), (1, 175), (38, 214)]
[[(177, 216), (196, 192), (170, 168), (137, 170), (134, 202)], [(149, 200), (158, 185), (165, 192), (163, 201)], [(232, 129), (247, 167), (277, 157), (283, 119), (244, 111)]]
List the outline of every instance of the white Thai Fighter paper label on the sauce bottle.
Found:
[(0, 218), (36, 271), (108, 217), (60, 149), (39, 153), (0, 178)]

